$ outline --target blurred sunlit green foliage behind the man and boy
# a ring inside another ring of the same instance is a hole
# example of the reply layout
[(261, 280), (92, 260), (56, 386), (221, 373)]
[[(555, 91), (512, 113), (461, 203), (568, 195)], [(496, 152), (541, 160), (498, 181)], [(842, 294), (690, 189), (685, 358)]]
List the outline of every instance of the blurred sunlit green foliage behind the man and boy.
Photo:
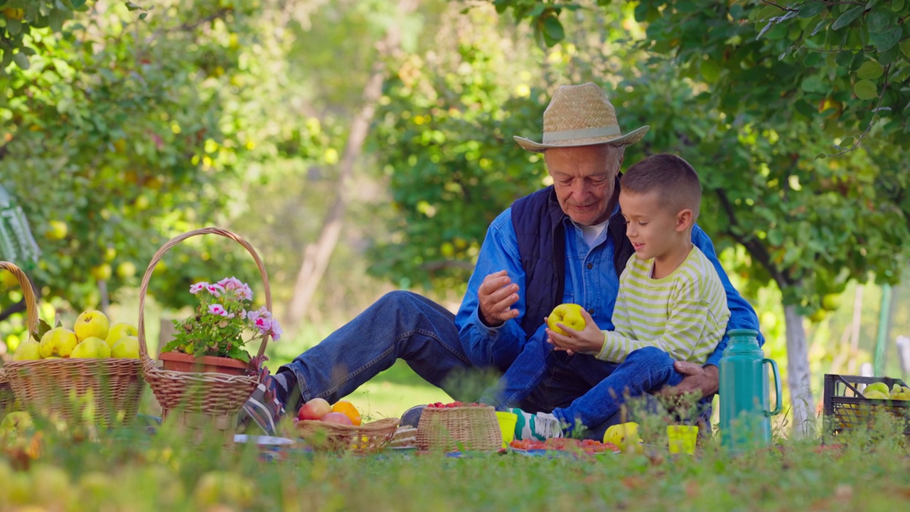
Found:
[[(549, 184), (512, 136), (539, 137), (554, 87), (593, 81), (622, 128), (652, 127), (627, 165), (670, 151), (699, 170), (699, 223), (782, 369), (806, 361), (817, 395), (821, 374), (871, 361), (887, 283), (886, 369), (901, 372), (910, 2), (404, 4), (0, 0), (0, 184), (42, 251), (25, 270), (45, 317), (101, 306), (132, 321), (157, 248), (210, 225), (253, 243), (297, 325), (273, 364), (391, 289), (454, 309), (490, 220)], [(339, 238), (317, 247), (339, 198)], [(177, 316), (191, 282), (228, 275), (263, 300), (241, 248), (181, 243), (147, 314)], [(0, 312), (21, 297), (4, 284)], [(22, 335), (20, 314), (0, 322), (0, 340)]]

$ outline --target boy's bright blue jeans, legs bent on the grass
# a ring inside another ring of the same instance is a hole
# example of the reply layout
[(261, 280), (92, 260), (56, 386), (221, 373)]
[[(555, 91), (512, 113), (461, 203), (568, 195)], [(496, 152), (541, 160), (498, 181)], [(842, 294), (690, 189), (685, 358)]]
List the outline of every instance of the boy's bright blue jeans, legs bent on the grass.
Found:
[[(621, 364), (601, 361), (591, 355), (567, 355), (553, 350), (545, 340), (526, 343), (521, 354), (502, 376), (496, 388), (484, 393), (481, 401), (497, 409), (534, 401), (535, 391), (548, 381), (547, 374), (588, 384), (589, 391), (571, 400), (570, 404), (552, 404), (551, 412), (561, 422), (581, 423), (586, 429), (619, 423), (619, 414), (626, 394), (641, 396), (659, 391), (663, 386), (682, 382), (682, 374), (673, 368), (673, 358), (657, 347), (644, 347), (630, 353)], [(579, 389), (584, 385), (580, 385)], [(522, 406), (522, 409), (524, 406)], [(546, 409), (547, 407), (540, 407)]]

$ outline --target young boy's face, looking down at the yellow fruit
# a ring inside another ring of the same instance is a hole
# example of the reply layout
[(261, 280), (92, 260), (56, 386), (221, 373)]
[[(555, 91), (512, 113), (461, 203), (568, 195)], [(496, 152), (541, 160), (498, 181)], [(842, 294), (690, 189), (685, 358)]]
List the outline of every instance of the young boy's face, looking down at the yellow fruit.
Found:
[(639, 260), (661, 259), (679, 247), (685, 222), (661, 204), (656, 191), (636, 194), (620, 190), (620, 209), (626, 220), (626, 237)]

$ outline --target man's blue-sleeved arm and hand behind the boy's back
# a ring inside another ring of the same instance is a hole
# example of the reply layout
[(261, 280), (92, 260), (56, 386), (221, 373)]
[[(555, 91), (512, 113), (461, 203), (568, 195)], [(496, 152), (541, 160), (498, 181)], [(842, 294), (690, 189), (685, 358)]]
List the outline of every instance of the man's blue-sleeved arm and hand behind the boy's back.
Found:
[[(758, 315), (755, 314), (752, 305), (749, 302), (746, 302), (746, 300), (743, 299), (743, 296), (733, 288), (733, 283), (730, 282), (730, 278), (727, 277), (727, 272), (723, 270), (721, 262), (717, 259), (717, 254), (714, 252), (714, 244), (697, 224), (693, 226), (692, 242), (708, 257), (708, 260), (711, 261), (711, 264), (717, 271), (717, 275), (720, 276), (721, 282), (723, 282), (723, 290), (727, 293), (727, 307), (730, 309), (730, 321), (727, 322), (727, 332), (733, 329), (753, 329), (755, 332), (758, 332)], [(723, 334), (721, 342), (717, 343), (717, 348), (708, 356), (707, 362), (703, 365), (677, 361), (674, 365), (676, 371), (684, 374), (685, 377), (682, 379), (682, 383), (673, 388), (672, 392), (698, 392), (703, 396), (717, 393), (717, 388), (720, 383), (720, 372), (717, 365), (721, 362), (723, 350), (727, 348), (727, 342), (729, 340), (730, 337)], [(758, 344), (759, 346), (764, 344), (762, 333), (758, 334)]]

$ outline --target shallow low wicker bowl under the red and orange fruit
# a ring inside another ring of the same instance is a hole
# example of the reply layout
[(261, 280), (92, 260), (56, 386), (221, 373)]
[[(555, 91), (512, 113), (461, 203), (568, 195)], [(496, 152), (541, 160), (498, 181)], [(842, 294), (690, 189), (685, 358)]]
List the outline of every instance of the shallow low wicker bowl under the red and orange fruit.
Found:
[(357, 426), (315, 420), (297, 422), (300, 437), (314, 449), (357, 453), (378, 452), (385, 448), (398, 425), (398, 418), (383, 418)]

